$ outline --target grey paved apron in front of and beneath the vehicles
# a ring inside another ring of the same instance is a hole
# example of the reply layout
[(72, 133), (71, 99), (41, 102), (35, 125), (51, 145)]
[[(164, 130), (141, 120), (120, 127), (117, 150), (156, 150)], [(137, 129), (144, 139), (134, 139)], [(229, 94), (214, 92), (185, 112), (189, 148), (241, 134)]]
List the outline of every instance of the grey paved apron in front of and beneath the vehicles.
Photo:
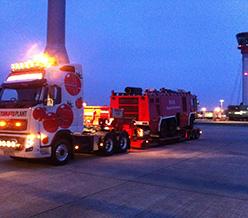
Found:
[(66, 166), (0, 157), (0, 217), (247, 217), (248, 127)]

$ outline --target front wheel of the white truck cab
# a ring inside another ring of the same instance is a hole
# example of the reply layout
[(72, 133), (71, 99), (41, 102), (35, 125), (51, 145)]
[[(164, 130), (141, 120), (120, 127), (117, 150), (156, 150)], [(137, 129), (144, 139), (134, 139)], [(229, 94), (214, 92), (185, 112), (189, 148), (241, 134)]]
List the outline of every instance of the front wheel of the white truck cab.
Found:
[(52, 163), (64, 165), (71, 158), (71, 143), (68, 140), (58, 140), (52, 147)]

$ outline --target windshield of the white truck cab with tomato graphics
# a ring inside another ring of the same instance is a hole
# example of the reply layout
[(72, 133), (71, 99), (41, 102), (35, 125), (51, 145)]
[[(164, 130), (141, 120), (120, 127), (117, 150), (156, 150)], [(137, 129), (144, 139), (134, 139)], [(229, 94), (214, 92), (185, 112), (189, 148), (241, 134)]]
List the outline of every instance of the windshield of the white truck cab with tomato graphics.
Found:
[(3, 87), (0, 90), (0, 108), (26, 108), (40, 102), (41, 87)]

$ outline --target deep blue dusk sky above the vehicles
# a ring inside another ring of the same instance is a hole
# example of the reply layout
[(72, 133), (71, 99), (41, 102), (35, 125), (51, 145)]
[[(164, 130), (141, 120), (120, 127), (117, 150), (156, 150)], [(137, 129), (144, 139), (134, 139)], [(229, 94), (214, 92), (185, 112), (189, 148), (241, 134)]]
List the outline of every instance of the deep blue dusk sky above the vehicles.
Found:
[[(0, 0), (1, 81), (46, 44), (47, 0)], [(201, 106), (240, 102), (247, 0), (67, 0), (66, 47), (88, 104), (126, 86), (185, 89)]]

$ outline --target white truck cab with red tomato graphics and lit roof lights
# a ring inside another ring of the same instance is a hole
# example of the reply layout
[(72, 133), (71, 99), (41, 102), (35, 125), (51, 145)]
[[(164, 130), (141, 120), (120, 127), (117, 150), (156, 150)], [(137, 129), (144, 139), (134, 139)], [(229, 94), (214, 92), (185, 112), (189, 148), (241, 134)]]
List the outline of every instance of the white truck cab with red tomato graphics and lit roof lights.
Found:
[(45, 55), (13, 64), (0, 89), (0, 154), (66, 162), (67, 143), (83, 131), (82, 105), (81, 65)]

